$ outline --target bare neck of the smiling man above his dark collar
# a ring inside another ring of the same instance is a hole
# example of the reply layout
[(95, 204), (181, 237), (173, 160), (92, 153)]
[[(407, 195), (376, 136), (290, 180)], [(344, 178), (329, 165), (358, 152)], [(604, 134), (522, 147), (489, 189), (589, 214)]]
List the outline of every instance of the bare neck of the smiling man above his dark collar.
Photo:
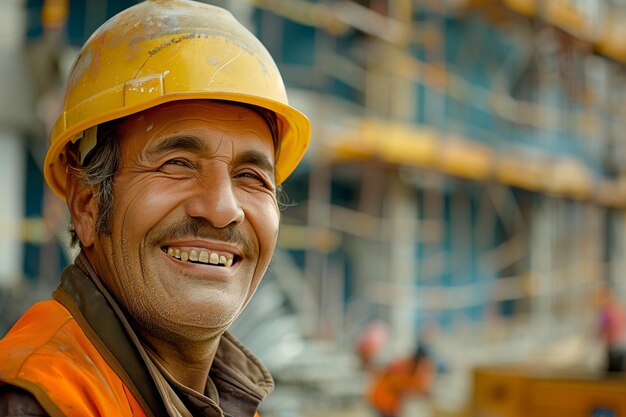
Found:
[(181, 385), (204, 393), (207, 378), (221, 335), (201, 342), (168, 342), (151, 334), (139, 333), (141, 344), (153, 360)]

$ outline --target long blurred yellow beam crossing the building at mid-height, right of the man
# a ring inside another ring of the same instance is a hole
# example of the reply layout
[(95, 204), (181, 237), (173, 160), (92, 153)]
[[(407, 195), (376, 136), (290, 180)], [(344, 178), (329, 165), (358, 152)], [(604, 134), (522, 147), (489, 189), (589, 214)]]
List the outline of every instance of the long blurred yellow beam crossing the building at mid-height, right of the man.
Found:
[(335, 161), (379, 159), (390, 165), (433, 169), (476, 181), (493, 179), (529, 191), (626, 208), (626, 178), (602, 180), (578, 158), (539, 149), (495, 152), (486, 144), (445, 136), (425, 126), (369, 118), (324, 145)]

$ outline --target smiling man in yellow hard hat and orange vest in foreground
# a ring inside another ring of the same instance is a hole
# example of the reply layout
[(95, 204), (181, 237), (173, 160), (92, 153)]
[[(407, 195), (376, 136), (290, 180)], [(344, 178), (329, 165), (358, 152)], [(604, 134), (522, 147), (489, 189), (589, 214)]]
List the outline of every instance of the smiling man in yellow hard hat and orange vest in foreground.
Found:
[(273, 382), (227, 328), (309, 130), (225, 10), (146, 1), (100, 27), (44, 172), (81, 253), (0, 341), (0, 415), (255, 415)]

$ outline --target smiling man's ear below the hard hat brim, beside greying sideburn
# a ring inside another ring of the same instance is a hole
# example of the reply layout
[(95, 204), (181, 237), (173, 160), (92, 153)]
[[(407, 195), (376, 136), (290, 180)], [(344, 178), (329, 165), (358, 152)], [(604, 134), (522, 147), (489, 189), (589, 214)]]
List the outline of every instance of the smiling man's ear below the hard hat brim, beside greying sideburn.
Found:
[(84, 248), (92, 246), (98, 218), (98, 202), (93, 188), (85, 186), (76, 175), (68, 173), (65, 199), (80, 243)]

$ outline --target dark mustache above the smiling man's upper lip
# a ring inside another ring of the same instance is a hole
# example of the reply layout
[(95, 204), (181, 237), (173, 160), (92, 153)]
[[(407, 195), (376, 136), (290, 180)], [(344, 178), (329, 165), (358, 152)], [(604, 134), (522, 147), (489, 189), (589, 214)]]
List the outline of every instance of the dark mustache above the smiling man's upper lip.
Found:
[(249, 240), (241, 232), (238, 226), (234, 224), (216, 228), (204, 219), (190, 217), (184, 221), (165, 227), (158, 233), (156, 241), (163, 242), (172, 238), (192, 238), (227, 242), (240, 246), (246, 257), (252, 257), (254, 255), (252, 245)]

